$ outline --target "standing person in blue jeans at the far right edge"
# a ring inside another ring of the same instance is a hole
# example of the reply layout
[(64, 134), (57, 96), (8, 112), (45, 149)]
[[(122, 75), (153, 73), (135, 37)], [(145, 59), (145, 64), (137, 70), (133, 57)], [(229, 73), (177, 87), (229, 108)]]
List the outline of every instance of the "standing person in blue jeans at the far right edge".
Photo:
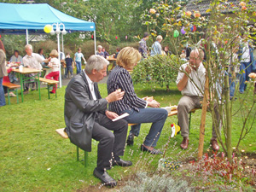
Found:
[(252, 70), (255, 70), (255, 62), (253, 57), (253, 46), (251, 46), (252, 42), (247, 40), (247, 36), (245, 34), (242, 35), (243, 40), (241, 41), (238, 59), (241, 63), (240, 71), (244, 71), (245, 73), (241, 73), (240, 77), (240, 86), (239, 92), (243, 94), (244, 90), (247, 89), (246, 81), (249, 80), (249, 74)]

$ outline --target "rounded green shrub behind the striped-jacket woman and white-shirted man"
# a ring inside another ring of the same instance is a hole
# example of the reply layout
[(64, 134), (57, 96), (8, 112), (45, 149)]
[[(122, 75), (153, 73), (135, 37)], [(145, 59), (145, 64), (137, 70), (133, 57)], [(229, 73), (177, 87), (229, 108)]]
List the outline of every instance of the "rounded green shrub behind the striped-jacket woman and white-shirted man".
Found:
[(175, 55), (156, 55), (143, 59), (134, 67), (132, 80), (134, 83), (148, 83), (151, 85), (159, 84), (161, 87), (177, 79), (177, 66), (181, 61)]

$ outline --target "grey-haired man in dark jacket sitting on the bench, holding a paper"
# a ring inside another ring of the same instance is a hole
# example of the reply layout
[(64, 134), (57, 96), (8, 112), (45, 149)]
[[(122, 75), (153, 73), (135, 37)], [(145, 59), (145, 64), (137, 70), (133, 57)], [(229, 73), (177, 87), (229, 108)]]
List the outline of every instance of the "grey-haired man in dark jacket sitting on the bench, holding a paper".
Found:
[[(115, 186), (116, 181), (106, 170), (111, 166), (131, 166), (131, 161), (121, 160), (124, 154), (127, 122), (112, 121), (117, 113), (108, 111), (108, 103), (119, 101), (125, 92), (116, 90), (102, 98), (96, 82), (107, 75), (108, 61), (99, 55), (91, 55), (82, 73), (67, 85), (65, 94), (65, 123), (71, 143), (91, 151), (91, 138), (99, 141), (97, 166), (93, 172), (102, 183)], [(112, 132), (113, 131), (113, 132)]]

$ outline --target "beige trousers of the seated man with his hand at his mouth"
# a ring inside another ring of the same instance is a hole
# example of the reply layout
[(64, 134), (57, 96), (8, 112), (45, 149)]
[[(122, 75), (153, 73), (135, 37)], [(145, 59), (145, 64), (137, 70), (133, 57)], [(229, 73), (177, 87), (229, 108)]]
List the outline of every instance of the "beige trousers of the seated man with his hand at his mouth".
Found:
[[(182, 96), (177, 104), (177, 119), (181, 129), (182, 137), (189, 137), (189, 111), (194, 108), (201, 108), (201, 96)], [(218, 125), (218, 129), (221, 127), (219, 121), (218, 105), (214, 104), (214, 115), (216, 116), (215, 125)], [(212, 138), (217, 137), (216, 131), (212, 124)]]

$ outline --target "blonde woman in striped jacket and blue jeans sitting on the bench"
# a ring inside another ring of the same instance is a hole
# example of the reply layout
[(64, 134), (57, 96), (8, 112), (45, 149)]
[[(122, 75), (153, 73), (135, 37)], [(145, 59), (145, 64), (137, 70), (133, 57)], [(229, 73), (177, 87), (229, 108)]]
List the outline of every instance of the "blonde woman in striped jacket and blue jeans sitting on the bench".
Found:
[[(137, 124), (131, 126), (130, 135), (127, 143), (133, 144), (134, 136), (138, 136), (142, 123), (152, 123), (148, 136), (145, 138), (141, 146), (142, 151), (148, 151), (150, 154), (162, 154), (160, 150), (155, 149), (156, 143), (160, 138), (161, 131), (165, 125), (168, 113), (166, 109), (159, 108), (160, 103), (153, 101), (145, 101), (137, 97), (133, 88), (131, 75), (127, 70), (132, 70), (140, 61), (141, 55), (137, 49), (125, 47), (121, 49), (117, 58), (117, 67), (108, 77), (108, 93), (114, 90), (124, 90), (125, 96), (122, 100), (109, 103), (109, 109), (115, 113), (129, 113), (125, 117), (128, 123)], [(151, 107), (151, 108), (147, 108)]]

